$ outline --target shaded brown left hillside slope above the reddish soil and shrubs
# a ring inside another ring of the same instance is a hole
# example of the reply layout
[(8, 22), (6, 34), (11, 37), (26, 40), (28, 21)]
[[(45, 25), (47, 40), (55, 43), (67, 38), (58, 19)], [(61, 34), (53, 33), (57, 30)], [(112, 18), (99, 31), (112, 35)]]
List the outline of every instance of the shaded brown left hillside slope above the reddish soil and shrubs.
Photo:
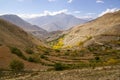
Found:
[(16, 25), (0, 19), (0, 44), (26, 48), (41, 43)]

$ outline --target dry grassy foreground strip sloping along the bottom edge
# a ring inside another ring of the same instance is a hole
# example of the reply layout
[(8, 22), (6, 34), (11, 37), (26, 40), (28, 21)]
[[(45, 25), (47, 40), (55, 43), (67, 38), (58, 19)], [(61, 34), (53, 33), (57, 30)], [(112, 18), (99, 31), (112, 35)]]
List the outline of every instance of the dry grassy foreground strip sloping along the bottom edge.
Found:
[(36, 72), (6, 80), (120, 80), (120, 66)]

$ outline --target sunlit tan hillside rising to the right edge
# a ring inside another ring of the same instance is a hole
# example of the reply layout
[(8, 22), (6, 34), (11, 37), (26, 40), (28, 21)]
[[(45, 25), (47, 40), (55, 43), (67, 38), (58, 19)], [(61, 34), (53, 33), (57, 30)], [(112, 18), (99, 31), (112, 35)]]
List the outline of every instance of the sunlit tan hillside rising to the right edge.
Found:
[[(119, 46), (120, 41), (120, 11), (107, 13), (102, 17), (69, 29), (63, 39), (63, 48), (92, 44), (109, 44)], [(113, 44), (113, 42), (116, 43)]]

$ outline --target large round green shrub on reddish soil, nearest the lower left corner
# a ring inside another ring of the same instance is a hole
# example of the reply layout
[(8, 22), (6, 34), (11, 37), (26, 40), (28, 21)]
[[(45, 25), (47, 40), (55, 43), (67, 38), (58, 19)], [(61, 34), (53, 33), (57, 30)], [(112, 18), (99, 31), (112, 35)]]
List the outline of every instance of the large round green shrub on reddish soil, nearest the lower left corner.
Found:
[(10, 69), (12, 69), (13, 71), (23, 71), (24, 63), (19, 60), (13, 60), (10, 63)]

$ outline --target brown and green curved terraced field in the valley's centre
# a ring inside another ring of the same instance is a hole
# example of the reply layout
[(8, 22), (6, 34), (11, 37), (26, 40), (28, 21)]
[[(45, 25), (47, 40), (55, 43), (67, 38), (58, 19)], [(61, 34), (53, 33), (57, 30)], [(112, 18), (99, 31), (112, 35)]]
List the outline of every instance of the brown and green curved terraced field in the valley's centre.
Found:
[(51, 66), (51, 67), (53, 67), (56, 63), (61, 63), (65, 65), (74, 65), (74, 64), (79, 65), (81, 62), (88, 63), (90, 59), (93, 59), (93, 57), (44, 55), (44, 57), (40, 59), (40, 63), (42, 65)]

